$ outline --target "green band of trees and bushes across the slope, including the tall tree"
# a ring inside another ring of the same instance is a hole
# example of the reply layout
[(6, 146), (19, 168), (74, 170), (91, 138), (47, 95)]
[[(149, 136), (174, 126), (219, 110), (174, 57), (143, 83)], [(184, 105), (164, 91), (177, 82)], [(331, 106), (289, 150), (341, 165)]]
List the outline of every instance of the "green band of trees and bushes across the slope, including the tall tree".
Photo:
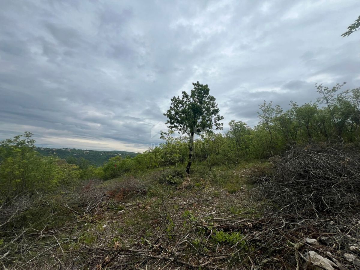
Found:
[[(76, 185), (84, 179), (111, 179), (126, 173), (183, 166), (226, 165), (251, 159), (266, 159), (294, 145), (359, 144), (360, 88), (342, 91), (344, 84), (329, 88), (316, 85), (316, 102), (290, 103), (284, 110), (273, 102), (260, 104), (259, 123), (249, 127), (230, 121), (222, 129), (222, 116), (207, 85), (194, 83), (191, 94), (174, 97), (168, 116), (169, 130), (161, 132), (163, 143), (136, 157), (112, 157), (103, 166), (68, 164), (35, 151), (31, 132), (0, 142), (0, 196), (23, 192), (48, 192), (58, 186)], [(195, 128), (194, 128), (195, 127)], [(180, 131), (181, 136), (174, 136)], [(195, 137), (197, 135), (197, 137)]]

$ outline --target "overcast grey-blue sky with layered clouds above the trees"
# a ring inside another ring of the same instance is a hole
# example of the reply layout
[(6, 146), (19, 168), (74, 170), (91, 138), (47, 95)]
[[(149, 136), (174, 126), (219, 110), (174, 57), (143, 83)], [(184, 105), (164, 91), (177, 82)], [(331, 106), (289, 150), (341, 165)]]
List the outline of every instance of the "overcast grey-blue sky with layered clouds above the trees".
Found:
[(0, 140), (142, 151), (195, 81), (225, 129), (253, 126), (264, 100), (360, 86), (360, 31), (341, 37), (359, 15), (359, 0), (0, 0)]

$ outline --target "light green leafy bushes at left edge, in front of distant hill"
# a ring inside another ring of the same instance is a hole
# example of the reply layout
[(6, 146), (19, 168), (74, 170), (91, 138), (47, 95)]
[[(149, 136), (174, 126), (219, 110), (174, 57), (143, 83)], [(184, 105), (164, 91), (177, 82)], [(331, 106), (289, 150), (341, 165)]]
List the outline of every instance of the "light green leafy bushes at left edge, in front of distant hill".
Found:
[(53, 156), (41, 156), (31, 136), (25, 132), (0, 142), (0, 199), (20, 193), (48, 193), (60, 185), (76, 185), (79, 180), (96, 177), (96, 169), (86, 161), (80, 168)]

